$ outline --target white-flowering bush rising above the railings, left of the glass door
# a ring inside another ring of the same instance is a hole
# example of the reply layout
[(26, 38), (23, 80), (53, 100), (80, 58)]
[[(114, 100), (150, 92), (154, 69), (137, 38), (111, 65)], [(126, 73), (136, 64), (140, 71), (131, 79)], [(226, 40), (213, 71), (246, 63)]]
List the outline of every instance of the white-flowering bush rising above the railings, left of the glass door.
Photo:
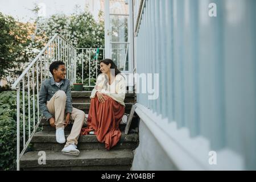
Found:
[(36, 22), (36, 35), (47, 42), (54, 34), (60, 34), (77, 48), (104, 47), (104, 22), (96, 22), (93, 15), (84, 12), (67, 16), (52, 15)]

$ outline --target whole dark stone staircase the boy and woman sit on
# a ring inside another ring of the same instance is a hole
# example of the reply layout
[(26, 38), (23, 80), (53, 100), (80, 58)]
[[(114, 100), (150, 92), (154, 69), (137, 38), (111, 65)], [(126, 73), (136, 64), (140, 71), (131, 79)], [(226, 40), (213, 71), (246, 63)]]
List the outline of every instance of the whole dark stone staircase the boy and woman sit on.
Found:
[[(88, 114), (90, 106), (90, 92), (72, 92), (73, 107), (85, 111)], [(125, 113), (129, 114), (131, 106), (135, 103), (135, 94), (126, 94)], [(133, 150), (139, 144), (137, 117), (134, 116), (133, 124), (129, 134), (125, 135), (125, 124), (121, 123), (119, 128), (122, 137), (117, 146), (112, 150), (105, 150), (105, 144), (98, 142), (95, 135), (80, 136), (77, 147), (80, 150), (78, 157), (61, 154), (64, 144), (59, 144), (55, 139), (55, 129), (52, 128), (46, 119), (40, 123), (42, 131), (35, 133), (31, 140), (32, 151), (26, 152), (20, 159), (22, 170), (130, 170), (133, 162)], [(84, 127), (86, 123), (84, 124)], [(68, 137), (72, 123), (65, 128), (65, 135)], [(39, 151), (46, 152), (46, 164), (39, 164)]]

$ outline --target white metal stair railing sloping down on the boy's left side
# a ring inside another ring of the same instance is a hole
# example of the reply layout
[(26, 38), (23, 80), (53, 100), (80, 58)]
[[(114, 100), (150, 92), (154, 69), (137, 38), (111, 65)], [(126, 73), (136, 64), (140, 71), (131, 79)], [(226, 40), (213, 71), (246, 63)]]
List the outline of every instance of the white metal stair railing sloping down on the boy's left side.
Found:
[[(16, 105), (17, 105), (17, 121), (16, 121), (16, 134), (17, 134), (17, 156), (16, 156), (16, 169), (19, 170), (20, 158), (26, 152), (27, 147), (29, 146), (32, 137), (38, 130), (40, 121), (43, 118), (43, 115), (39, 113), (39, 85), (40, 82), (46, 79), (47, 75), (49, 77), (49, 70), (46, 70), (46, 65), (48, 65), (49, 60), (63, 60), (67, 64), (67, 77), (71, 80), (71, 83), (76, 82), (76, 61), (77, 61), (77, 48), (73, 46), (68, 40), (63, 38), (59, 34), (55, 34), (49, 42), (44, 46), (42, 51), (35, 57), (35, 59), (28, 65), (22, 74), (17, 78), (17, 80), (12, 85), (11, 89), (16, 90)], [(44, 60), (42, 60), (44, 59)], [(40, 64), (40, 68), (39, 68)], [(44, 70), (43, 66), (44, 65)], [(35, 70), (36, 68), (36, 70)], [(39, 71), (40, 71), (40, 82), (39, 82)], [(32, 72), (32, 79), (30, 72)], [(35, 72), (36, 72), (36, 81), (35, 81)], [(27, 84), (25, 85), (25, 78), (27, 77)], [(31, 79), (31, 80), (30, 80)], [(32, 82), (32, 83), (31, 83)], [(21, 84), (22, 83), (22, 84)], [(32, 84), (32, 85), (31, 85)], [(27, 87), (27, 96), (28, 96), (28, 108), (25, 108), (25, 88)], [(21, 89), (22, 88), (22, 89)], [(20, 90), (22, 90), (22, 103), (21, 107), (23, 110), (23, 150), (20, 152)], [(32, 94), (31, 94), (31, 92)], [(35, 109), (35, 91), (37, 92), (37, 111)], [(30, 103), (30, 96), (32, 95), (32, 107)], [(28, 121), (26, 121), (25, 113), (28, 109)], [(32, 112), (30, 112), (30, 109)], [(31, 114), (32, 113), (32, 114)], [(37, 114), (37, 123), (36, 123), (36, 114)], [(33, 121), (33, 128), (31, 132), (31, 121)], [(28, 122), (28, 139), (26, 141), (26, 123)]]

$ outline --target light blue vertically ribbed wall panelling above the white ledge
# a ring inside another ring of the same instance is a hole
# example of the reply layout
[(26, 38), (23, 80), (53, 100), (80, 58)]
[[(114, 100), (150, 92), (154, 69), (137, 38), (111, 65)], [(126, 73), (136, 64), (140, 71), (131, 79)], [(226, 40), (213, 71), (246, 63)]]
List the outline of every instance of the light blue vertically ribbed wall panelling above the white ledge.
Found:
[[(217, 17), (210, 17), (210, 3)], [(256, 1), (146, 0), (135, 41), (138, 73), (159, 73), (159, 98), (138, 94), (213, 150), (256, 169)]]

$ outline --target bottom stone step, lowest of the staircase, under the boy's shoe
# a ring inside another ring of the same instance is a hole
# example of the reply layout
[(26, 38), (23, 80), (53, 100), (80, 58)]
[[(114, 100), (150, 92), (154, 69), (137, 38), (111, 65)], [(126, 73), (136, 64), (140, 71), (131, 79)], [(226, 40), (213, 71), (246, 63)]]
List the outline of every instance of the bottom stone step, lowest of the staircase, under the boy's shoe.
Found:
[[(118, 170), (122, 166), (129, 168), (133, 161), (131, 150), (80, 150), (77, 157), (61, 154), (61, 151), (45, 151), (46, 164), (38, 163), (38, 151), (27, 152), (20, 159), (20, 167), (23, 169), (94, 169), (94, 170)], [(74, 167), (74, 168), (73, 168)], [(115, 168), (116, 167), (116, 168)]]

